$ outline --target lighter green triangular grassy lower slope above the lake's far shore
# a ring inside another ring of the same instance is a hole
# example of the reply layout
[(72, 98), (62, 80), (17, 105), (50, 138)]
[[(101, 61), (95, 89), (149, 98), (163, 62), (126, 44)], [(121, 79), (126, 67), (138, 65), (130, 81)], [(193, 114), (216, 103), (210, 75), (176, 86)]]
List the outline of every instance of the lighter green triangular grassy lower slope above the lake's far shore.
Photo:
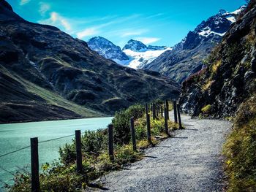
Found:
[(0, 66), (0, 73), (0, 87), (4, 87), (4, 93), (0, 96), (1, 101), (4, 100), (0, 105), (0, 123), (102, 116), (23, 79), (15, 72), (10, 73), (4, 66)]

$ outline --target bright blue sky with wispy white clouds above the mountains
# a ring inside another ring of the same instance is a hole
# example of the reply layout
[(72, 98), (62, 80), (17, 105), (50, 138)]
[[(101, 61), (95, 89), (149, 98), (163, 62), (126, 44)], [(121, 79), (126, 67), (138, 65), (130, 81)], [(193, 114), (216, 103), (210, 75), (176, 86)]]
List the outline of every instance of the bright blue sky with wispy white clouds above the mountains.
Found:
[(7, 0), (34, 23), (56, 26), (87, 41), (102, 36), (123, 47), (129, 39), (173, 46), (219, 9), (232, 12), (244, 0)]

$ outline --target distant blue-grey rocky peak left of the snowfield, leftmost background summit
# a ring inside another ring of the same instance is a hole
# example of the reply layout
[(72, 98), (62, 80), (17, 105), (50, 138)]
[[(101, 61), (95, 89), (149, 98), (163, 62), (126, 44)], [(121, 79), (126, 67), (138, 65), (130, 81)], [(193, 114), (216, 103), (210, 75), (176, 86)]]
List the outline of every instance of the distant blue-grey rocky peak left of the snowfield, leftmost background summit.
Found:
[(129, 62), (129, 57), (122, 52), (121, 48), (104, 37), (93, 37), (89, 39), (87, 45), (91, 50), (95, 50), (99, 53), (99, 55), (116, 61), (118, 64), (127, 64)]

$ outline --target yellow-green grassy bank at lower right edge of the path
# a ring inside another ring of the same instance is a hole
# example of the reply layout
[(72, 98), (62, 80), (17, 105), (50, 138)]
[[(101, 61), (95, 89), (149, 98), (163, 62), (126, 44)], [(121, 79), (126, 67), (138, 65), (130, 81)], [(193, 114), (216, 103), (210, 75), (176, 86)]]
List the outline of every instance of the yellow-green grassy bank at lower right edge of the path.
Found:
[(233, 130), (223, 147), (227, 191), (256, 191), (256, 96), (238, 110)]

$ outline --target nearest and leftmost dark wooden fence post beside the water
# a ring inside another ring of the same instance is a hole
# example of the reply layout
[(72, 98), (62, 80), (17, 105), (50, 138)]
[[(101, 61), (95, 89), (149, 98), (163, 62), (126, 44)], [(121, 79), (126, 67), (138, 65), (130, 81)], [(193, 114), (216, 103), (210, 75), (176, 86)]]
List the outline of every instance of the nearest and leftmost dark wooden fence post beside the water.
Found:
[(39, 192), (39, 158), (38, 158), (38, 139), (30, 138), (31, 146), (31, 191)]

